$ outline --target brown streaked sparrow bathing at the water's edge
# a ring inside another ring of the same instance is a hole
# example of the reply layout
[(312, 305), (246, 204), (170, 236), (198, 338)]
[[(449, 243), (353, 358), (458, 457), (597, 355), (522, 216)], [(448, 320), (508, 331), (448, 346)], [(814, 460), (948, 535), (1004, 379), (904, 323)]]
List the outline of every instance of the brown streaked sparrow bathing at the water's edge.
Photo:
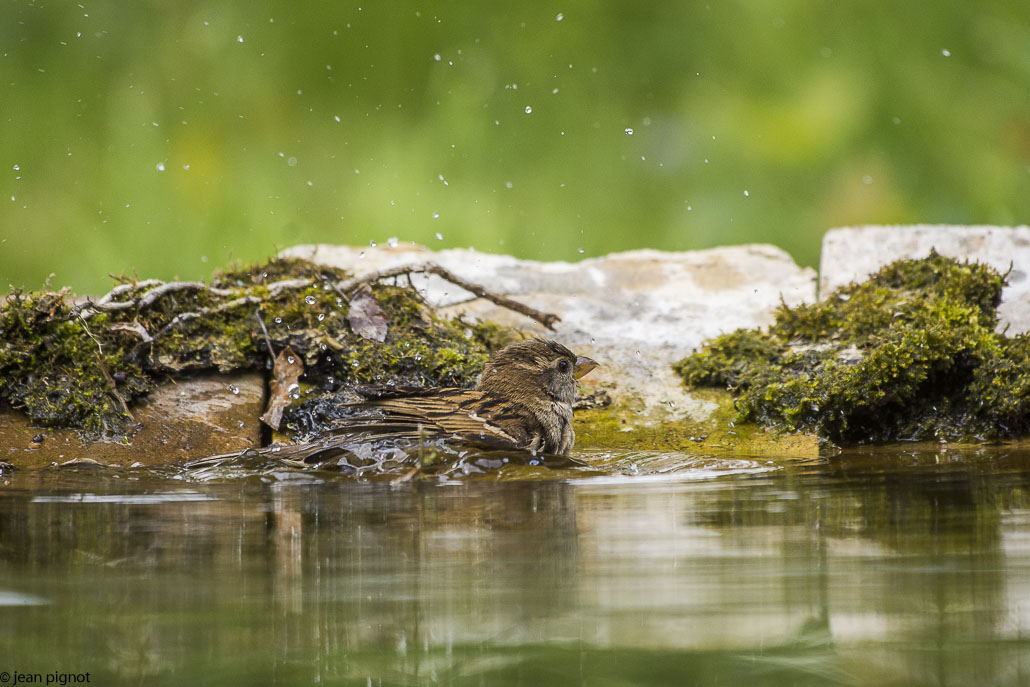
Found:
[(457, 440), (494, 449), (566, 455), (576, 441), (576, 380), (597, 367), (554, 341), (531, 339), (501, 349), (474, 389), (372, 387), (338, 406), (329, 432), (278, 449), (277, 456), (324, 463), (352, 455), (362, 442)]

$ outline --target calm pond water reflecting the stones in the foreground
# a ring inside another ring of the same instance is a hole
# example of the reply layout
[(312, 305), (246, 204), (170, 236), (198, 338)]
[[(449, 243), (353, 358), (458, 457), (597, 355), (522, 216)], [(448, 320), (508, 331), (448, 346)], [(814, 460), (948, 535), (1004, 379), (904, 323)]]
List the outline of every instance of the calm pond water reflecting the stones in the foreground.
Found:
[(4, 474), (0, 671), (101, 685), (1030, 684), (1030, 452), (581, 457), (593, 468), (398, 484)]

